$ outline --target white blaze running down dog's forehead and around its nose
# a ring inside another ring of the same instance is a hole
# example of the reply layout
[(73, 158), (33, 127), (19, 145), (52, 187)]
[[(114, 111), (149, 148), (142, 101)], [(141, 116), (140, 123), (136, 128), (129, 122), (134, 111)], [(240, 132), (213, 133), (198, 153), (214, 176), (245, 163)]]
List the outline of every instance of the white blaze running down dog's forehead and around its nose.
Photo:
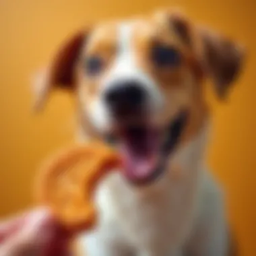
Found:
[(149, 97), (148, 108), (153, 113), (157, 113), (163, 105), (163, 98), (157, 89), (156, 83), (147, 73), (141, 70), (137, 63), (135, 52), (131, 44), (133, 24), (124, 23), (119, 26), (118, 53), (113, 65), (102, 79), (100, 86), (100, 95), (91, 105), (89, 115), (96, 129), (106, 131), (111, 125), (111, 116), (108, 106), (104, 103), (104, 94), (110, 87), (115, 86), (117, 82), (125, 80), (136, 80), (146, 88)]

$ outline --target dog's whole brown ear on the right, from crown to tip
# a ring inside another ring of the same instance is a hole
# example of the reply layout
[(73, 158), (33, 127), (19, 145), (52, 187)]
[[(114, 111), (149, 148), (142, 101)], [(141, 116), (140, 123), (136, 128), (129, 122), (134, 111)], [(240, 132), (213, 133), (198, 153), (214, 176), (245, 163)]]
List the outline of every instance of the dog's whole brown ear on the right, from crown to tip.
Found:
[(197, 71), (210, 77), (216, 94), (224, 98), (241, 71), (245, 49), (212, 30), (195, 26), (181, 11), (169, 11), (168, 19), (197, 58)]

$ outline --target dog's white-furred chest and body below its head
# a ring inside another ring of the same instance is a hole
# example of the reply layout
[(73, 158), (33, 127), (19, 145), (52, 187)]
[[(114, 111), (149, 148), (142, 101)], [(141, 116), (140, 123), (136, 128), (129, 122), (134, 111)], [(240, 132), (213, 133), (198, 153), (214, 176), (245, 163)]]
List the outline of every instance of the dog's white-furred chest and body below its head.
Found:
[(196, 248), (194, 256), (225, 255), (220, 191), (203, 168), (206, 133), (205, 125), (170, 158), (170, 166), (181, 167), (181, 178), (169, 167), (147, 187), (133, 187), (118, 172), (100, 185), (100, 223), (81, 237), (85, 255), (174, 256), (183, 255), (185, 244), (191, 251)]

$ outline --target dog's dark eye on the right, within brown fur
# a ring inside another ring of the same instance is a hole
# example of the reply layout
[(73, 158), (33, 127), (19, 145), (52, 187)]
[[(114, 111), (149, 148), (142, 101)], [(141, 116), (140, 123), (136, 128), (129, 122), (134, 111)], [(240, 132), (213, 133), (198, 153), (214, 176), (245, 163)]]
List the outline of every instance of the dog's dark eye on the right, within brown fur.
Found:
[(174, 47), (155, 44), (152, 49), (152, 61), (158, 67), (176, 67), (181, 63), (181, 54)]

